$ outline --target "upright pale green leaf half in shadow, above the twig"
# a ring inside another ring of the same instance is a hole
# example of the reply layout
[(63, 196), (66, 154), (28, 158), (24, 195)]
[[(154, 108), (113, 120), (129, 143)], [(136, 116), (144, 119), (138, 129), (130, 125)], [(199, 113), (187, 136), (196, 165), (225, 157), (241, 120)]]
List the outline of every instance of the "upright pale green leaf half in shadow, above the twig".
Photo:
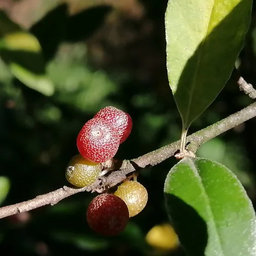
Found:
[(184, 129), (215, 100), (244, 45), (252, 0), (169, 0), (167, 71)]

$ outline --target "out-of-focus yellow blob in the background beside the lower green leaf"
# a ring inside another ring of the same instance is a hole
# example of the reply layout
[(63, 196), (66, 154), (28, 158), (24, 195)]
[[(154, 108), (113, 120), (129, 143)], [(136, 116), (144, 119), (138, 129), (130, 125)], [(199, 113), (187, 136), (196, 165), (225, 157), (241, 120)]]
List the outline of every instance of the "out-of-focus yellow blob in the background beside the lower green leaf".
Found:
[(179, 247), (179, 239), (174, 228), (166, 223), (154, 226), (146, 234), (146, 242), (161, 250), (174, 250)]

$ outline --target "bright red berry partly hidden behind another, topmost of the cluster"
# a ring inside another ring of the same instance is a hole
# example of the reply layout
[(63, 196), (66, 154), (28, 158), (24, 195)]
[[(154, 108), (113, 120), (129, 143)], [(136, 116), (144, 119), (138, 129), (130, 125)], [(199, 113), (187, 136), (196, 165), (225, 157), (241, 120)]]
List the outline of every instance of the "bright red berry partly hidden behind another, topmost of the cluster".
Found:
[(101, 109), (94, 118), (109, 121), (119, 134), (120, 144), (124, 142), (131, 133), (133, 126), (131, 116), (114, 106), (106, 106)]

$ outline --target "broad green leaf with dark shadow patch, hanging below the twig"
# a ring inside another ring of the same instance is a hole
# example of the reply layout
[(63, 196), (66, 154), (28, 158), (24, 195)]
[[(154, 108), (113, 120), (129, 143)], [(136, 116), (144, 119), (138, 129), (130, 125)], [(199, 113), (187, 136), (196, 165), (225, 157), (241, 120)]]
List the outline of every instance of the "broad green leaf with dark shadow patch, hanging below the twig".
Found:
[(250, 199), (224, 165), (185, 158), (168, 173), (166, 209), (188, 255), (256, 255), (256, 219)]

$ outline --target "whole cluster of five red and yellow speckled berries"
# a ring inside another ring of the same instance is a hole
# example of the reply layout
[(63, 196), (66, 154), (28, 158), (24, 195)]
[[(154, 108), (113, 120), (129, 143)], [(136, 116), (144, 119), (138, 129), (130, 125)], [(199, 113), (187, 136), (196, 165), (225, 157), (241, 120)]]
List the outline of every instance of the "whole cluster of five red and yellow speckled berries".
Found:
[[(86, 122), (77, 136), (80, 154), (74, 156), (66, 169), (67, 180), (77, 187), (93, 184), (99, 177), (101, 163), (112, 159), (118, 147), (130, 135), (129, 114), (107, 106)], [(124, 181), (114, 194), (100, 194), (87, 210), (89, 226), (103, 236), (123, 231), (129, 218), (139, 214), (147, 202), (147, 191), (135, 179)]]

